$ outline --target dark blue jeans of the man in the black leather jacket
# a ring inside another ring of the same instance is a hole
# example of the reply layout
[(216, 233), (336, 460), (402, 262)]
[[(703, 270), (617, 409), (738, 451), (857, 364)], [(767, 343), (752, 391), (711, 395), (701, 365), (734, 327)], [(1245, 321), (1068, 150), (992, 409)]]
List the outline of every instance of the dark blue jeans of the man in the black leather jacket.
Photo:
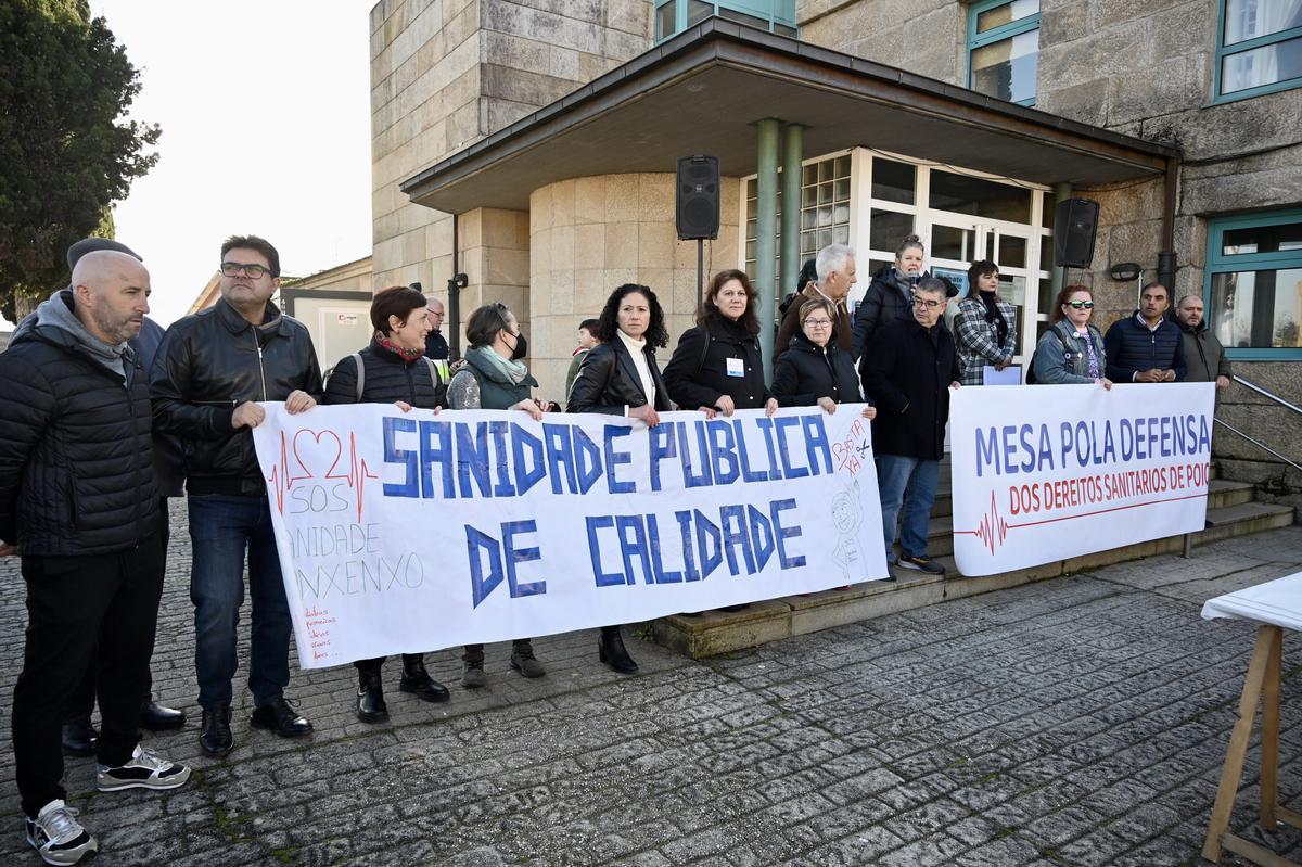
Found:
[(240, 668), (236, 626), (243, 604), (245, 552), (253, 598), (249, 689), (262, 707), (289, 683), (289, 603), (280, 577), (276, 536), (266, 496), (191, 495), (190, 601), (194, 603), (194, 668), (199, 704), (230, 703)]

